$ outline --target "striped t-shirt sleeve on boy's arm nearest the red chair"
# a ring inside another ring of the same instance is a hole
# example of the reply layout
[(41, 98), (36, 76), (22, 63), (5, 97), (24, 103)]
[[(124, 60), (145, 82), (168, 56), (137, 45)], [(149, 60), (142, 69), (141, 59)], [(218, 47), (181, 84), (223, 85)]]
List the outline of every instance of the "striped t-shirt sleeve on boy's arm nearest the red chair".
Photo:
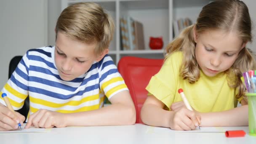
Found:
[(99, 85), (108, 99), (111, 99), (116, 93), (128, 90), (123, 77), (110, 56), (105, 56), (100, 66)]

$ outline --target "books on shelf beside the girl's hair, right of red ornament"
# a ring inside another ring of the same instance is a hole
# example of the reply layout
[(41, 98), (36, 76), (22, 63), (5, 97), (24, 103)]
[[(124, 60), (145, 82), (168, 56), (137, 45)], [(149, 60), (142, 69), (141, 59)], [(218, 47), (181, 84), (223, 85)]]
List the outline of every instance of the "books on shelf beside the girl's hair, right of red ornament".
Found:
[(173, 37), (177, 37), (184, 28), (190, 26), (191, 24), (192, 21), (189, 18), (178, 19), (173, 21)]

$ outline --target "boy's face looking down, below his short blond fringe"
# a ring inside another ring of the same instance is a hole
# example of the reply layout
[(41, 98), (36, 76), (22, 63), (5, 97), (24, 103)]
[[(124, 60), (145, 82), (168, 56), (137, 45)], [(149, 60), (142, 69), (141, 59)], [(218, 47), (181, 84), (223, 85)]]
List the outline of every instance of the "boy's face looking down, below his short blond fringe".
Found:
[(96, 43), (81, 43), (58, 32), (54, 52), (55, 64), (62, 80), (70, 81), (85, 74), (94, 61)]

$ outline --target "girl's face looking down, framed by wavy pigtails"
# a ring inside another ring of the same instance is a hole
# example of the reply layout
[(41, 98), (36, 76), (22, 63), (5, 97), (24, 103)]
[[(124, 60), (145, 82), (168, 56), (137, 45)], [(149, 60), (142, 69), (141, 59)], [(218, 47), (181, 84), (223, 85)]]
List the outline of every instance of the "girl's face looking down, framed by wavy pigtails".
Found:
[(197, 63), (209, 77), (229, 69), (246, 45), (235, 32), (225, 33), (219, 30), (197, 34), (194, 28), (194, 40)]

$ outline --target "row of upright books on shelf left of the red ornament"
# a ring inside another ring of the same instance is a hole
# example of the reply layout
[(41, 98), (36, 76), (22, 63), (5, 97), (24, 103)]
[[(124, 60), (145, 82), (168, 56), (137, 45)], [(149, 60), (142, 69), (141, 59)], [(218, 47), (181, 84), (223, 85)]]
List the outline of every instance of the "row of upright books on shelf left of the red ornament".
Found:
[(121, 50), (145, 49), (143, 24), (131, 16), (120, 17)]

